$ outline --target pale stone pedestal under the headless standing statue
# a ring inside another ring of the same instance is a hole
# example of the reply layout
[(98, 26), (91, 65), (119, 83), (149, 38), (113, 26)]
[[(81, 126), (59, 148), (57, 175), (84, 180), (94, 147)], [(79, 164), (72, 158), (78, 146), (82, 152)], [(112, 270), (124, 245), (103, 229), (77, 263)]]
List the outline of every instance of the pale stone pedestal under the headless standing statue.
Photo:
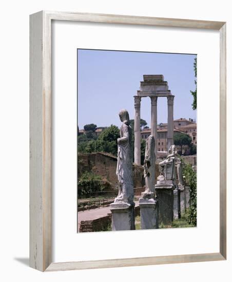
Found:
[(157, 229), (159, 228), (159, 208), (157, 200), (139, 199), (140, 206), (140, 224), (141, 229)]

